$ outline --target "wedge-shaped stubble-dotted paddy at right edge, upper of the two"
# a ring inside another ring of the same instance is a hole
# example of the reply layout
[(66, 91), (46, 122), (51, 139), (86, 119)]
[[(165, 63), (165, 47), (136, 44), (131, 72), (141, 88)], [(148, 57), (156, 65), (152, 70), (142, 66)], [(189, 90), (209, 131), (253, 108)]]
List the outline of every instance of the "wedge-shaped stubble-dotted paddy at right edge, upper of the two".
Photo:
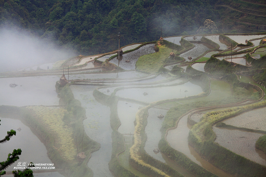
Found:
[(236, 117), (224, 120), (223, 123), (237, 127), (244, 127), (248, 129), (265, 131), (266, 130), (265, 107), (244, 112), (243, 114), (240, 114)]

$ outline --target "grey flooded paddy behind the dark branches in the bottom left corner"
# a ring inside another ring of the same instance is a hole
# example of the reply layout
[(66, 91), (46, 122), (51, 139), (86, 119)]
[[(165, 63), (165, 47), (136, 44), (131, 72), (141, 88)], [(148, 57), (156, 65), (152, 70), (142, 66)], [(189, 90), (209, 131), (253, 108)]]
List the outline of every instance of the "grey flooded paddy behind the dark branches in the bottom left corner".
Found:
[[(1, 129), (0, 134), (4, 137), (6, 136), (6, 132), (11, 129), (16, 131), (16, 136), (13, 136), (6, 143), (1, 144), (1, 153), (0, 158), (6, 159), (8, 153), (11, 153), (13, 149), (20, 148), (22, 150), (21, 155), (19, 156), (19, 162), (33, 162), (33, 163), (52, 163), (47, 155), (47, 150), (45, 145), (39, 140), (39, 138), (34, 135), (34, 133), (30, 130), (28, 126), (23, 124), (18, 119), (6, 118), (8, 115), (1, 115)], [(13, 117), (11, 115), (11, 117)], [(27, 138), (25, 138), (27, 137)], [(30, 145), (30, 146), (29, 146)], [(13, 171), (14, 167), (17, 166), (18, 162), (9, 166), (6, 171)], [(27, 164), (28, 165), (28, 164)], [(38, 169), (36, 169), (38, 170)], [(50, 172), (56, 177), (63, 177), (58, 172)], [(38, 173), (38, 176), (48, 177), (50, 173)], [(34, 176), (37, 173), (34, 173)], [(5, 176), (13, 176), (13, 175), (5, 175)]]

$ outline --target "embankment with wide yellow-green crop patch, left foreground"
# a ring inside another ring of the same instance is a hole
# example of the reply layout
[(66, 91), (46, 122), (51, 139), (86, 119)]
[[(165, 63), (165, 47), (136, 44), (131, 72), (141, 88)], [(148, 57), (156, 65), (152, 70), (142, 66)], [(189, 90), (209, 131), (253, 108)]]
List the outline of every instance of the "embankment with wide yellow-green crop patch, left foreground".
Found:
[[(99, 144), (91, 140), (86, 133), (83, 136), (82, 121), (85, 110), (69, 88), (69, 85), (60, 89), (60, 98), (65, 103), (63, 108), (27, 107), (23, 117), (34, 128), (38, 136), (46, 145), (49, 158), (58, 168), (65, 170), (66, 176), (92, 176), (87, 167), (90, 153), (99, 148)], [(87, 156), (84, 161), (77, 160), (76, 141), (79, 152), (82, 148)]]

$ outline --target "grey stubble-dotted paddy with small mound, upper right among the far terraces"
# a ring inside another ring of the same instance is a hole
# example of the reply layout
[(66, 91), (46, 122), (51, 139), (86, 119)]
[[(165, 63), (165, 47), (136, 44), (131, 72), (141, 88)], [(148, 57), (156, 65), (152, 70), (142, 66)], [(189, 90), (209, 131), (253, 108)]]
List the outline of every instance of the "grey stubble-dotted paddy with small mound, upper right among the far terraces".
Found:
[[(210, 48), (208, 48), (207, 46), (203, 45), (203, 44), (194, 44), (195, 47), (192, 48), (191, 50), (180, 54), (180, 57), (185, 58), (186, 61), (191, 61), (194, 60), (196, 58), (198, 58), (199, 56), (201, 56), (203, 53), (205, 53), (206, 51), (210, 50)], [(192, 59), (189, 60), (188, 57), (191, 56)]]

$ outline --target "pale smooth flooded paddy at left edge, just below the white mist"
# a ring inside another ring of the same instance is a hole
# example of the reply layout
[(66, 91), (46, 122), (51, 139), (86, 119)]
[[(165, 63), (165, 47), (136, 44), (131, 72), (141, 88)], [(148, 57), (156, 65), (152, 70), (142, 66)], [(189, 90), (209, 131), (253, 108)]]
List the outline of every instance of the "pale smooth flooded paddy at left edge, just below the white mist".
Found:
[[(60, 76), (13, 77), (0, 79), (0, 105), (58, 105), (55, 84)], [(17, 86), (11, 87), (10, 84)]]

